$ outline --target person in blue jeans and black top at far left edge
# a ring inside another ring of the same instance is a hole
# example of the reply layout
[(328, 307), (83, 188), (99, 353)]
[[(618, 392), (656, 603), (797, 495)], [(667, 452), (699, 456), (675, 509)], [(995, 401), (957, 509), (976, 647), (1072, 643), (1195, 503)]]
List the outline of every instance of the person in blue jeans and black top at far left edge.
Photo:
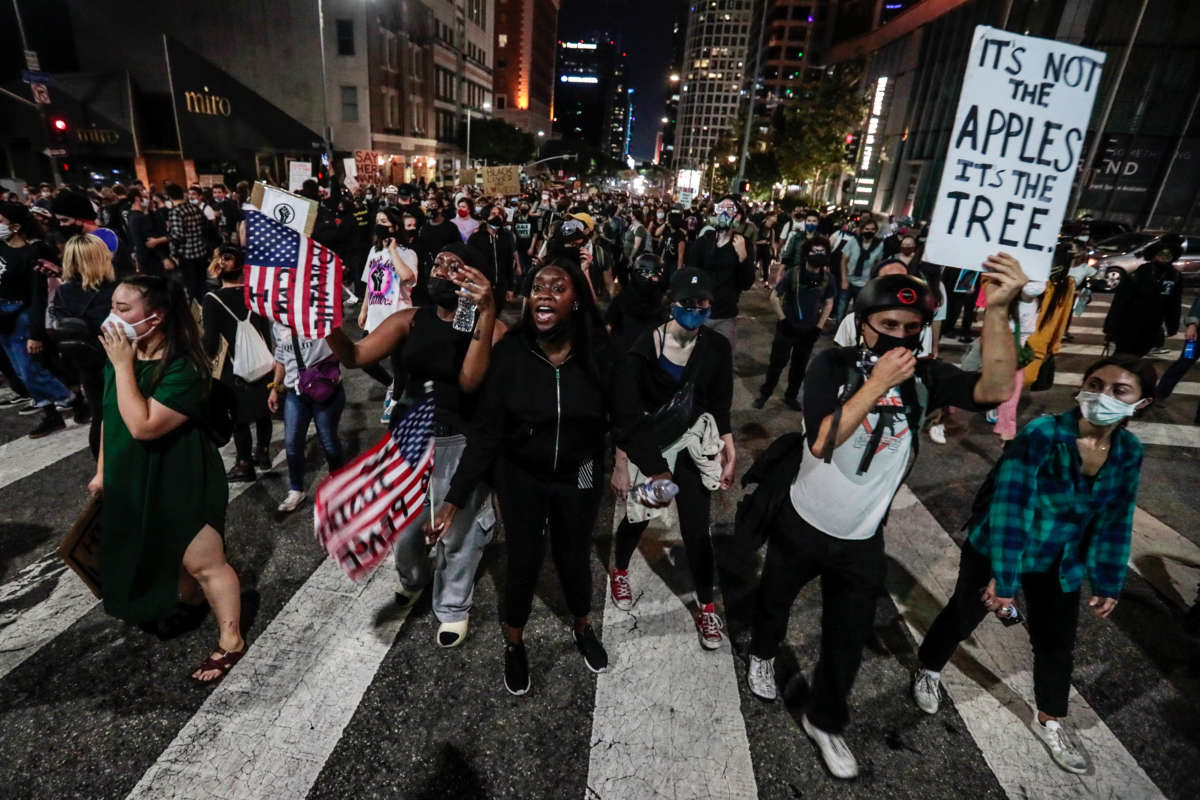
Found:
[(43, 356), (48, 295), (46, 276), (36, 267), (49, 253), (38, 233), (29, 209), (20, 203), (0, 204), (0, 347), (29, 392), (22, 413), (42, 417), (30, 439), (65, 428), (61, 410), (78, 402)]

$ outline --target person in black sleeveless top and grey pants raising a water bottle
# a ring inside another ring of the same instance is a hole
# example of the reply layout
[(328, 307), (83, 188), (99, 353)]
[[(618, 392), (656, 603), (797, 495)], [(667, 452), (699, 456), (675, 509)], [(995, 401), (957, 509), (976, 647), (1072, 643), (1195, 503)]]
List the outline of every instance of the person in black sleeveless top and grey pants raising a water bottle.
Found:
[[(362, 367), (395, 355), (408, 373), (407, 393), (419, 397), (426, 381), (433, 384), (433, 470), (428, 501), (440, 504), (450, 479), (467, 449), (467, 429), (475, 409), (476, 390), (487, 374), (493, 341), (506, 330), (496, 315), (492, 281), (482, 255), (462, 243), (446, 245), (430, 272), (432, 306), (406, 308), (386, 317), (360, 342), (335, 330), (325, 343), (347, 367)], [(452, 320), (460, 297), (476, 307), (475, 329), (458, 331)], [(439, 626), (437, 644), (452, 648), (467, 637), (475, 570), (491, 539), (494, 515), (491, 489), (475, 483), (460, 498), (460, 515), (433, 546), (433, 565), (418, 515), (397, 534), (392, 547), (400, 587), (396, 601), (413, 606), (425, 587), (433, 587), (433, 615)], [(432, 507), (432, 506), (431, 506)]]

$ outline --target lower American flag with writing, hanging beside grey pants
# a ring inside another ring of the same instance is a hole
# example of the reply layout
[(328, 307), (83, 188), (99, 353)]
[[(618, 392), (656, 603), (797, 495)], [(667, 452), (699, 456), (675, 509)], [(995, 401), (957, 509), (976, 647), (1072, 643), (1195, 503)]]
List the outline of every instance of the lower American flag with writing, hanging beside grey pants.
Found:
[(433, 397), (414, 405), (400, 425), (317, 487), (317, 541), (352, 579), (368, 573), (416, 519), (433, 469)]

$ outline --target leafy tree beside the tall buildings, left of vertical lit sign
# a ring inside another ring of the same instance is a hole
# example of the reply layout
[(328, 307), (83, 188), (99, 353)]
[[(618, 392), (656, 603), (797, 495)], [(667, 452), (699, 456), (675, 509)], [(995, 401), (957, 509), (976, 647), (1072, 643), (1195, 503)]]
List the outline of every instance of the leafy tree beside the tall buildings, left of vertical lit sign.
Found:
[(857, 76), (845, 71), (826, 74), (776, 109), (774, 152), (787, 182), (816, 181), (826, 168), (841, 164), (846, 134), (862, 127), (865, 114)]

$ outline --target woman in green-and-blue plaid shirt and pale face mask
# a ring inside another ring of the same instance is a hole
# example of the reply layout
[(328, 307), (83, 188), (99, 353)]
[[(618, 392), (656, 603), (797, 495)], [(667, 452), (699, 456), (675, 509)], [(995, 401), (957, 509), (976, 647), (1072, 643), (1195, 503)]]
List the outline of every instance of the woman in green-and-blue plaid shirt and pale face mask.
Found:
[(954, 595), (917, 652), (913, 698), (926, 714), (941, 699), (941, 670), (989, 612), (1007, 619), (1021, 589), (1028, 604), (1037, 717), (1030, 727), (1068, 772), (1087, 754), (1062, 723), (1070, 693), (1080, 584), (1105, 618), (1124, 584), (1142, 446), (1126, 429), (1154, 401), (1154, 368), (1116, 355), (1084, 373), (1078, 409), (1030, 422), (976, 495)]

